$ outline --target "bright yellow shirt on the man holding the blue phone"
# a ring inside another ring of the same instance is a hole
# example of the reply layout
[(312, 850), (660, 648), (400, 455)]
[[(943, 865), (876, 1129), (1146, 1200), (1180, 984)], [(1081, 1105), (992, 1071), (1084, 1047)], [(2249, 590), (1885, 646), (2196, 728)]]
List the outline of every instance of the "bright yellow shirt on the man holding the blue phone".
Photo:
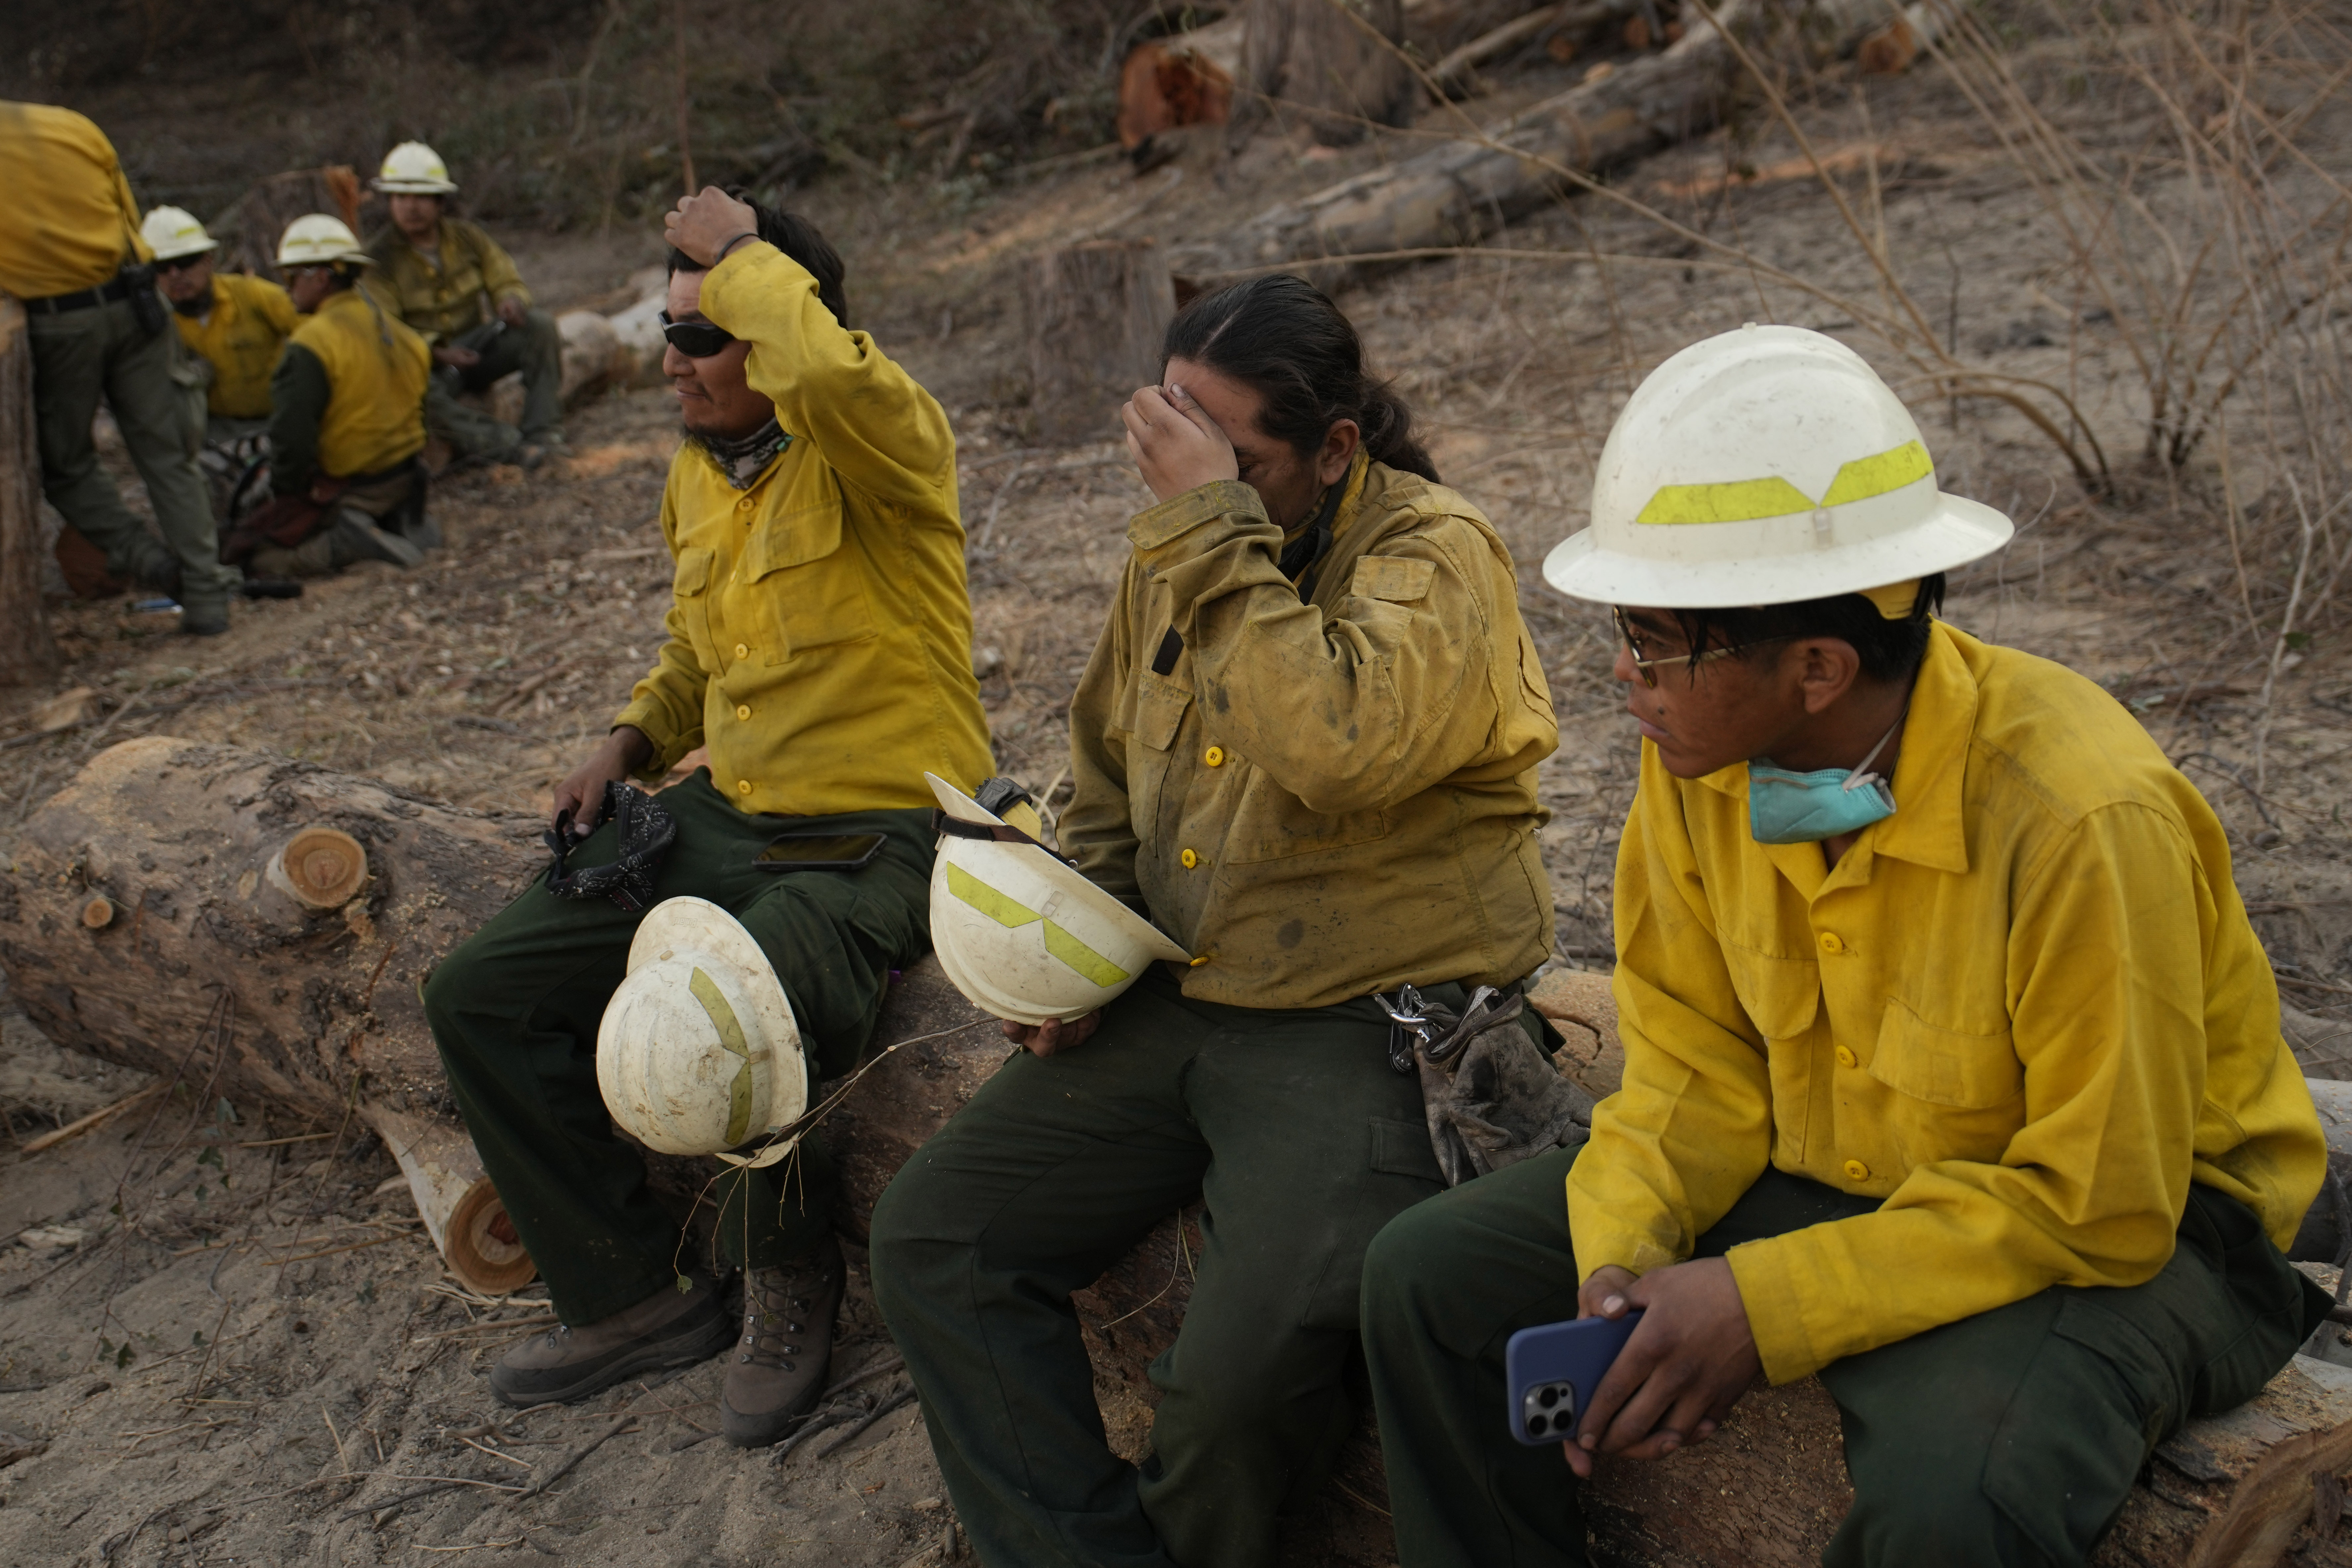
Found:
[(1569, 1175), (1585, 1274), (1691, 1255), (1766, 1161), (1875, 1213), (1729, 1253), (1773, 1382), (2133, 1286), (2187, 1185), (2286, 1246), (2326, 1147), (2211, 806), (2105, 691), (1936, 625), (1896, 816), (1759, 846), (1748, 766), (1642, 745), (1618, 851), (1625, 1088)]

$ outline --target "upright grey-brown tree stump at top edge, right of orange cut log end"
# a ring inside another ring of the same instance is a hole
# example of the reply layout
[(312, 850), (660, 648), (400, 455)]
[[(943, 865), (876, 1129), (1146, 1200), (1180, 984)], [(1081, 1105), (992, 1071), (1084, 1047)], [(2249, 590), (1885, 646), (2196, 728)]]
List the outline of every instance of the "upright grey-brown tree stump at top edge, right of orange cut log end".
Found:
[(1411, 125), (1421, 80), (1397, 54), (1402, 0), (1249, 0), (1235, 150), (1275, 113), (1315, 141), (1355, 146), (1374, 125)]

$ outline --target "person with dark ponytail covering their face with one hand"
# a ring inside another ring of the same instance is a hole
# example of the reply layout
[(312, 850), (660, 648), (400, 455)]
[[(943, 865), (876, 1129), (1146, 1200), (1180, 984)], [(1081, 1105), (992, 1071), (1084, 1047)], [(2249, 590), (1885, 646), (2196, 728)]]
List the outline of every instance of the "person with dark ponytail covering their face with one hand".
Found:
[[(1160, 505), (1070, 703), (1061, 849), (1192, 952), (1028, 1046), (898, 1171), (875, 1300), (983, 1563), (1275, 1561), (1352, 1422), (1364, 1246), (1437, 1192), (1374, 992), (1463, 1009), (1550, 950), (1557, 745), (1510, 552), (1437, 484), (1348, 317), (1261, 277), (1188, 306), (1122, 409)], [(1207, 1199), (1141, 1472), (1070, 1291)]]

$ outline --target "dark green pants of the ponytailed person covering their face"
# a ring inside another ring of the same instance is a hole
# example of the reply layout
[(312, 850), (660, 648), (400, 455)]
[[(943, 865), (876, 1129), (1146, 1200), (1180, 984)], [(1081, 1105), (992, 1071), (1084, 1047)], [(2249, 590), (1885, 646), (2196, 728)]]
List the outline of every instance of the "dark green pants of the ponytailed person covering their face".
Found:
[[(1014, 1056), (873, 1218), (875, 1300), (978, 1559), (1272, 1563), (1275, 1514), (1355, 1422), (1364, 1246), (1442, 1185), (1369, 999), (1218, 1006), (1152, 966), (1084, 1046)], [(1070, 1291), (1195, 1194), (1204, 1251), (1138, 1472), (1103, 1441)]]

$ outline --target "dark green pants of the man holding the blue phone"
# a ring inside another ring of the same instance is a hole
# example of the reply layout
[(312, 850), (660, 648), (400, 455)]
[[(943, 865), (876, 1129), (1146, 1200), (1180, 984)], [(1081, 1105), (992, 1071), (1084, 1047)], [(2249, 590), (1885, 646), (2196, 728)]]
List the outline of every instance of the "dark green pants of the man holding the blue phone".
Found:
[[(1364, 1356), (1404, 1568), (1588, 1561), (1569, 1465), (1510, 1436), (1503, 1392), (1510, 1335), (1576, 1316), (1571, 1159), (1465, 1182), (1371, 1246)], [(1875, 1206), (1766, 1171), (1698, 1255)], [(2082, 1563), (2150, 1450), (2258, 1394), (2324, 1314), (2246, 1206), (2190, 1187), (2173, 1258), (2147, 1284), (2053, 1286), (1835, 1361), (1820, 1382), (1844, 1418), (1853, 1509), (1823, 1563)]]

